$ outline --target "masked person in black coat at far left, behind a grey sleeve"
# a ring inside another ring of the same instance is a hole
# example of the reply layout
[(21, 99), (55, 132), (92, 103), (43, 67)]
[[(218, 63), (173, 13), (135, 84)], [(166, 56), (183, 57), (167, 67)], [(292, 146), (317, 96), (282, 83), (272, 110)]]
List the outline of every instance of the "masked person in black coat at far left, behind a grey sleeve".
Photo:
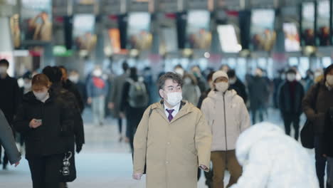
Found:
[[(9, 61), (6, 59), (0, 60), (0, 109), (4, 113), (7, 122), (12, 126), (19, 101), (21, 99), (20, 88), (16, 78), (8, 75)], [(0, 145), (0, 164), (1, 164), (1, 145)], [(7, 168), (8, 157), (4, 153), (3, 169)]]

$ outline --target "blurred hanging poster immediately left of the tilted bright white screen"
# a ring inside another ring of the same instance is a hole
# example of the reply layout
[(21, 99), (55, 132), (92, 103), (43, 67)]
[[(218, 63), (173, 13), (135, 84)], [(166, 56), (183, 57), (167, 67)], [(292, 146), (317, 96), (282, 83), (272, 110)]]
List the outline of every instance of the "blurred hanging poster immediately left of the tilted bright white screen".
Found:
[(204, 10), (189, 11), (186, 26), (186, 48), (209, 49), (211, 47), (211, 13)]

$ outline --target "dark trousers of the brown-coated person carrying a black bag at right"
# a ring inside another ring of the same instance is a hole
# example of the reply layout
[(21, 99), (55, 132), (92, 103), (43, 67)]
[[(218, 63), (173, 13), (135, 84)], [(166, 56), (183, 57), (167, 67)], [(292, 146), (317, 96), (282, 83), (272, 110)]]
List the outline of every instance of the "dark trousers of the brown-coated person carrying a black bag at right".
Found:
[(324, 188), (324, 176), (327, 159), (323, 157), (322, 136), (316, 135), (314, 137), (314, 152), (316, 160), (316, 172), (319, 180), (319, 187)]

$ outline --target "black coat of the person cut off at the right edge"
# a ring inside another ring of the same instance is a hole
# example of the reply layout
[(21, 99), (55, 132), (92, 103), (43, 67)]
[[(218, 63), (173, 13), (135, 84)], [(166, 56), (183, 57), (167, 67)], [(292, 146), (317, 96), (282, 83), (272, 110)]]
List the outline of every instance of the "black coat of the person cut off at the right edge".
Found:
[(328, 157), (333, 157), (333, 108), (329, 108), (325, 117), (324, 127), (324, 153)]

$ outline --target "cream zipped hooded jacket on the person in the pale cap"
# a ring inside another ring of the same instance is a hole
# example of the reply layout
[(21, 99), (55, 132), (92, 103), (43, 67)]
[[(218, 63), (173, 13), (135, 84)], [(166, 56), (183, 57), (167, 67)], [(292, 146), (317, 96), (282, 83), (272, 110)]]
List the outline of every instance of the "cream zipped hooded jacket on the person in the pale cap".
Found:
[(211, 125), (213, 142), (211, 151), (235, 150), (241, 132), (250, 127), (250, 117), (245, 103), (235, 90), (208, 93), (201, 106), (203, 115)]

